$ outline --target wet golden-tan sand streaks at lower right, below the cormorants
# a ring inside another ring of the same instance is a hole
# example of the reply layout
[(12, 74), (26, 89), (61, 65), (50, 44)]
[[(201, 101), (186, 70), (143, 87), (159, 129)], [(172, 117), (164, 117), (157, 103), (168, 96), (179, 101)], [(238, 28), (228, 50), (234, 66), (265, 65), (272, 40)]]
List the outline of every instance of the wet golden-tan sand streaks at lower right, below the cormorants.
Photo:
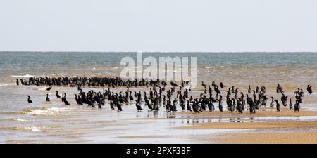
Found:
[[(316, 111), (302, 110), (302, 112), (292, 112), (290, 110), (257, 111), (256, 114), (237, 114), (230, 112), (202, 112), (195, 114), (199, 117), (208, 117), (213, 113), (213, 117), (316, 117)], [(215, 116), (216, 115), (216, 116)], [(237, 129), (230, 133), (216, 133), (213, 136), (201, 136), (197, 142), (201, 143), (317, 143), (317, 121), (255, 121), (255, 122), (206, 122), (192, 124), (192, 126), (182, 126), (183, 130), (215, 130), (215, 129)]]

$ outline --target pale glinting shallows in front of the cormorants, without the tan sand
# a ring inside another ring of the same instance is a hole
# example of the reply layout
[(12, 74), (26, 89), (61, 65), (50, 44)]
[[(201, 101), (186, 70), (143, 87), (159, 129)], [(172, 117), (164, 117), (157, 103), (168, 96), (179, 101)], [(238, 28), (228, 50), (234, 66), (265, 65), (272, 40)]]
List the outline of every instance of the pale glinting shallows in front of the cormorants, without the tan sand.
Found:
[[(136, 112), (135, 105), (124, 105), (123, 112), (110, 110), (108, 104), (98, 110), (75, 104), (71, 94), (77, 88), (54, 87), (68, 94), (71, 105), (66, 107), (52, 92), (49, 92), (51, 103), (45, 103), (44, 87), (7, 86), (6, 89), (5, 93), (1, 91), (5, 96), (2, 101), (8, 103), (0, 113), (1, 143), (197, 143), (197, 136), (244, 130), (174, 127), (205, 122), (317, 121), (317, 116), (206, 119), (166, 112), (164, 107), (159, 112), (149, 112), (144, 105), (142, 112)], [(34, 103), (26, 103), (25, 93), (32, 96)]]

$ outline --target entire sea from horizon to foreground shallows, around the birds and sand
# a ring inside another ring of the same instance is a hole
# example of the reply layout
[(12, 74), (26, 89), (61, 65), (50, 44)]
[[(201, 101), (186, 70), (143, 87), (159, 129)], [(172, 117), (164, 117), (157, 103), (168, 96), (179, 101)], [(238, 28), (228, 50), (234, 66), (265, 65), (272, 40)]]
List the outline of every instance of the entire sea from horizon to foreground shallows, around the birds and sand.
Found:
[[(135, 105), (123, 106), (123, 112), (92, 110), (75, 104), (77, 88), (54, 87), (46, 103), (46, 87), (15, 86), (15, 77), (30, 76), (118, 76), (120, 59), (135, 53), (0, 53), (0, 143), (197, 143), (200, 135), (213, 136), (240, 130), (182, 130), (174, 127), (204, 122), (317, 121), (317, 117), (241, 117), (206, 119), (181, 112), (136, 112)], [(145, 53), (156, 57), (163, 53)], [(280, 83), (294, 100), (297, 87), (316, 85), (317, 53), (168, 53), (170, 56), (197, 56), (198, 85), (223, 81), (226, 86), (267, 87), (268, 96)], [(91, 88), (83, 88), (88, 91)], [(199, 96), (203, 88), (192, 92)], [(142, 89), (131, 89), (143, 91)], [(147, 89), (148, 90), (148, 89)], [(55, 92), (66, 92), (70, 106), (56, 98)], [(94, 88), (94, 91), (102, 89)], [(116, 90), (119, 91), (119, 90)], [(125, 90), (121, 90), (125, 91)], [(223, 96), (225, 92), (222, 92)], [(27, 103), (27, 95), (34, 103)], [(304, 96), (303, 108), (317, 110), (317, 95)], [(271, 100), (268, 100), (269, 104)], [(108, 103), (108, 102), (107, 102)], [(143, 105), (144, 106), (144, 105)], [(216, 110), (218, 110), (216, 106)], [(224, 107), (226, 105), (224, 104)], [(180, 109), (180, 107), (178, 107)]]

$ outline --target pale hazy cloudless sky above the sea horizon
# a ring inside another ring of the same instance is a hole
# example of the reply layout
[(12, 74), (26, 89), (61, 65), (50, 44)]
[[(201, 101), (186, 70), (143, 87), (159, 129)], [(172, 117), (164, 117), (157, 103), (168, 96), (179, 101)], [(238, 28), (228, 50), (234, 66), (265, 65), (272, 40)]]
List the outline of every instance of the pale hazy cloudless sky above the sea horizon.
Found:
[(316, 0), (0, 0), (0, 51), (317, 51)]

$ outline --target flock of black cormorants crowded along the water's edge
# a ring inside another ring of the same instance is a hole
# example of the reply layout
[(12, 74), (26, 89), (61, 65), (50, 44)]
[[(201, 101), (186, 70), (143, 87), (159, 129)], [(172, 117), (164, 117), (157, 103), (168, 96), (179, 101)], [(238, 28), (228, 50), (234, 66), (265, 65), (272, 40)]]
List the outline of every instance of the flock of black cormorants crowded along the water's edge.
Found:
[[(189, 96), (189, 92), (192, 91), (191, 86), (189, 89), (185, 88), (189, 86), (189, 81), (181, 81), (180, 86), (175, 81), (170, 81), (169, 89), (166, 89), (166, 86), (168, 86), (166, 81), (160, 81), (159, 79), (149, 81), (146, 79), (135, 79), (130, 81), (120, 79), (119, 77), (31, 77), (20, 79), (20, 81), (16, 79), (16, 84), (26, 86), (49, 86), (49, 88), (46, 88), (46, 91), (51, 91), (53, 86), (77, 86), (77, 90), (79, 91), (79, 93), (75, 94), (77, 105), (87, 105), (92, 108), (98, 107), (101, 109), (105, 105), (106, 100), (108, 100), (111, 110), (115, 110), (116, 107), (118, 111), (123, 111), (123, 105), (135, 103), (137, 112), (141, 112), (143, 110), (142, 103), (144, 103), (148, 110), (158, 111), (163, 106), (166, 108), (166, 111), (176, 112), (178, 111), (178, 107), (180, 107), (182, 111), (194, 113), (204, 112), (207, 109), (213, 111), (216, 109), (215, 105), (217, 104), (218, 110), (223, 112), (223, 96), (221, 95), (219, 86), (223, 91), (225, 90), (223, 88), (226, 87), (222, 82), (220, 82), (220, 85), (218, 86), (215, 81), (212, 81), (212, 84), (207, 86), (204, 84), (204, 81), (201, 81), (201, 86), (204, 87), (204, 93), (201, 93), (199, 98), (193, 98), (193, 96)], [(82, 87), (86, 86), (103, 88), (103, 91), (82, 91)], [(106, 86), (108, 86), (108, 88), (105, 89), (104, 87)], [(147, 95), (147, 91), (143, 91), (143, 95), (141, 91), (133, 91), (132, 95), (130, 88), (139, 86), (146, 86), (149, 88), (149, 95)], [(127, 89), (125, 91), (120, 91), (119, 93), (111, 91), (111, 88), (116, 87), (127, 87)], [(313, 93), (311, 85), (308, 85), (306, 90), (309, 94)], [(216, 94), (213, 95), (213, 93)], [(280, 84), (276, 87), (276, 93), (280, 93), (280, 102), (284, 107), (287, 107), (288, 104), (290, 110), (299, 112), (302, 97), (304, 96), (303, 89), (297, 88), (297, 91), (294, 91), (296, 98), (294, 105), (292, 103), (292, 98), (290, 98), (290, 102), (287, 103), (289, 96), (285, 96), (285, 92), (282, 90)], [(228, 87), (225, 97), (228, 111), (242, 113), (244, 110), (249, 110), (250, 113), (256, 113), (256, 110), (259, 110), (261, 106), (266, 106), (267, 100), (269, 99), (266, 95), (265, 86), (261, 86), (261, 88), (256, 86), (256, 88), (252, 90), (251, 85), (249, 85), (245, 95), (246, 97), (244, 98), (244, 93), (240, 91), (238, 87)], [(175, 97), (172, 99), (172, 96)], [(27, 102), (32, 103), (30, 96), (27, 97)], [(61, 98), (61, 101), (65, 105), (70, 105), (66, 98), (66, 93), (62, 93), (62, 96), (60, 96), (58, 91), (56, 91), (56, 98)], [(46, 101), (50, 101), (49, 94), (46, 94)], [(274, 106), (279, 112), (281, 107), (279, 100), (271, 96), (270, 107)]]

